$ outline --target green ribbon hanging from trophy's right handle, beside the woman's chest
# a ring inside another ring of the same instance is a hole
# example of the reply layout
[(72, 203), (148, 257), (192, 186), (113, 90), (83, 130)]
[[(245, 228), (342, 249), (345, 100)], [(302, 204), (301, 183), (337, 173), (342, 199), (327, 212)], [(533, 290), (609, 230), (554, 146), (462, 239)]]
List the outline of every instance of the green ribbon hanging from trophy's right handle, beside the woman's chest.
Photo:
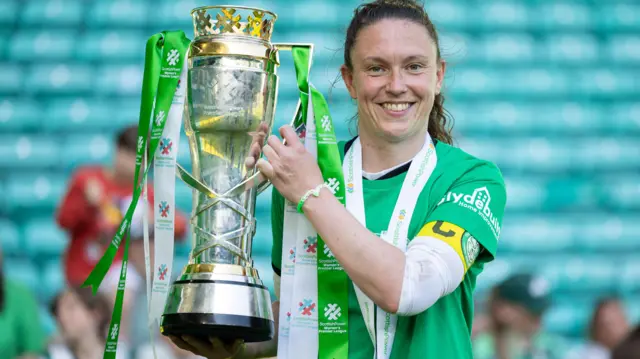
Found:
[[(316, 125), (318, 166), (325, 183), (345, 204), (345, 181), (329, 106), (322, 94), (309, 84), (310, 46), (292, 48), (296, 79), (302, 103), (294, 126), (306, 123), (309, 96)], [(346, 272), (318, 235), (318, 359), (346, 359), (349, 354), (349, 282)]]

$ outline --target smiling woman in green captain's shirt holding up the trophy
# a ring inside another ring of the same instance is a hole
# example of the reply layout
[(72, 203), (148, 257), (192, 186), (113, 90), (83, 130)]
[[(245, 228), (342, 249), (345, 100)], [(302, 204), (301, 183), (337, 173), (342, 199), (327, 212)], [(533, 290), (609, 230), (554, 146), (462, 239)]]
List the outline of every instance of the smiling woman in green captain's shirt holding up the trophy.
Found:
[[(247, 345), (174, 338), (182, 348), (211, 359), (274, 356), (276, 347), (278, 358), (370, 359), (375, 342), (379, 358), (472, 357), (473, 290), (495, 255), (506, 201), (501, 173), (451, 146), (445, 63), (421, 5), (360, 6), (344, 58), (342, 77), (358, 104), (358, 136), (339, 143), (346, 207), (290, 126), (280, 129), (286, 145), (269, 137), (266, 159), (257, 161), (275, 187), (277, 338)], [(292, 227), (295, 216), (317, 232), (298, 236), (305, 248), (289, 247), (304, 228)], [(321, 258), (341, 265), (331, 269), (335, 286), (316, 270)]]

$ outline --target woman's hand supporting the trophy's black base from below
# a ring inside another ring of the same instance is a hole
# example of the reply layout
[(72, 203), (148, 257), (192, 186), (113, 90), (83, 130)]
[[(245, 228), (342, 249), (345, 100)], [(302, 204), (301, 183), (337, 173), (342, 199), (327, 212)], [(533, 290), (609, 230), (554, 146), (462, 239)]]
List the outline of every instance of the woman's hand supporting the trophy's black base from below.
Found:
[(169, 337), (171, 341), (180, 349), (190, 351), (195, 355), (207, 359), (232, 359), (241, 358), (244, 352), (242, 340), (236, 340), (231, 344), (225, 344), (218, 338), (210, 338), (209, 341), (184, 335), (182, 338)]

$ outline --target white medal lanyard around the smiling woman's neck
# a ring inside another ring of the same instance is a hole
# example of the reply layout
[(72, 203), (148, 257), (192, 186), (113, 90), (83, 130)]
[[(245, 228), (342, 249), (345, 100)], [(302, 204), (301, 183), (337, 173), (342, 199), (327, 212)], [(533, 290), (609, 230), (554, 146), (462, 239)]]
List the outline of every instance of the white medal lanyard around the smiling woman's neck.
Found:
[[(382, 239), (393, 244), (403, 252), (406, 251), (409, 242), (409, 224), (411, 223), (411, 217), (413, 216), (418, 196), (427, 184), (433, 169), (436, 167), (436, 163), (436, 151), (431, 137), (427, 134), (424, 146), (411, 162), (409, 172), (404, 179), (400, 195), (398, 196), (391, 215), (387, 232), (382, 236)], [(347, 210), (356, 217), (363, 226), (366, 226), (367, 222), (362, 188), (362, 145), (359, 138), (356, 138), (348, 153), (345, 155), (343, 171), (345, 174), (345, 182), (347, 183)], [(369, 332), (369, 337), (374, 344), (374, 359), (388, 359), (391, 355), (393, 340), (395, 338), (397, 316), (377, 308), (373, 301), (357, 286), (354, 285), (354, 287), (367, 331)], [(374, 310), (377, 311), (376, 323), (374, 323)]]

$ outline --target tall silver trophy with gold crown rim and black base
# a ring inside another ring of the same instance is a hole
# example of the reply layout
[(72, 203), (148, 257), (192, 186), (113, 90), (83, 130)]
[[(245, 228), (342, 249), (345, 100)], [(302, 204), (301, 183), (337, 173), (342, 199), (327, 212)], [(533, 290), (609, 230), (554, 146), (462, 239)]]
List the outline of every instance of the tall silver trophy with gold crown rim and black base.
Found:
[(160, 331), (268, 341), (275, 333), (271, 298), (251, 259), (258, 188), (245, 186), (256, 170), (245, 160), (273, 125), (277, 17), (240, 6), (200, 7), (191, 16), (184, 126), (193, 177), (213, 194), (193, 191), (193, 249), (169, 288)]

